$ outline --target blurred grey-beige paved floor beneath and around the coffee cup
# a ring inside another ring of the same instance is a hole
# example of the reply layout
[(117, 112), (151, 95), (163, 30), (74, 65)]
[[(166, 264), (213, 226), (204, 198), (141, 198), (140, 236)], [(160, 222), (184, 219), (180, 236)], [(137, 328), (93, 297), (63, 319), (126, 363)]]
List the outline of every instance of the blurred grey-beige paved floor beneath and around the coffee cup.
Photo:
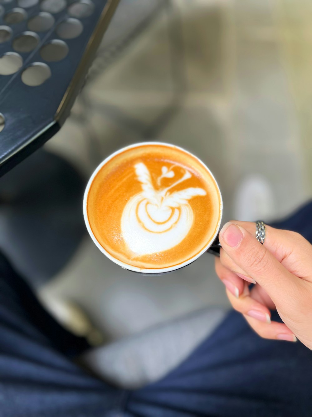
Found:
[[(87, 106), (77, 100), (47, 148), (89, 176), (126, 144), (175, 143), (214, 173), (224, 222), (240, 215), (235, 196), (252, 177), (267, 182), (272, 195), (259, 217), (288, 214), (312, 194), (312, 152), (307, 135), (302, 138), (307, 116), (294, 105), (302, 89), (293, 39), (281, 36), (291, 25), (285, 3), (175, 0), (173, 10), (164, 8), (87, 84)], [(48, 304), (77, 301), (107, 340), (115, 340), (203, 306), (228, 306), (213, 264), (204, 254), (180, 271), (146, 278), (116, 266), (86, 237), (40, 296)]]

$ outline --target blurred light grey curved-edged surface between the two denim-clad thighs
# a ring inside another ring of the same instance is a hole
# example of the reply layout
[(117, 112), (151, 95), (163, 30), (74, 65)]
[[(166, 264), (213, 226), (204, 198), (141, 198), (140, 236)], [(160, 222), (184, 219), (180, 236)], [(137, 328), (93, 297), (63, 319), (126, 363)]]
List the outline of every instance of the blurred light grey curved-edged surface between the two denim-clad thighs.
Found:
[(80, 363), (105, 381), (141, 388), (175, 369), (223, 322), (228, 309), (208, 306), (90, 349)]

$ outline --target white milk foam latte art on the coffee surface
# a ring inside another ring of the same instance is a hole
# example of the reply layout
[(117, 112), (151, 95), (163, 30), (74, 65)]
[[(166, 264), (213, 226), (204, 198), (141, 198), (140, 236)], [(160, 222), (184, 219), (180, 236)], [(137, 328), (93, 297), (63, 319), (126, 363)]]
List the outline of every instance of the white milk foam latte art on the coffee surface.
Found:
[[(171, 186), (156, 190), (144, 163), (137, 163), (134, 168), (142, 191), (129, 200), (121, 216), (124, 240), (129, 250), (139, 256), (172, 249), (187, 236), (193, 224), (193, 210), (188, 200), (205, 196), (206, 191), (203, 188), (190, 187), (170, 193), (171, 188), (191, 178), (192, 175), (187, 170)], [(158, 178), (158, 184), (163, 177), (175, 176), (172, 168), (168, 170), (166, 166), (162, 166), (162, 176)]]

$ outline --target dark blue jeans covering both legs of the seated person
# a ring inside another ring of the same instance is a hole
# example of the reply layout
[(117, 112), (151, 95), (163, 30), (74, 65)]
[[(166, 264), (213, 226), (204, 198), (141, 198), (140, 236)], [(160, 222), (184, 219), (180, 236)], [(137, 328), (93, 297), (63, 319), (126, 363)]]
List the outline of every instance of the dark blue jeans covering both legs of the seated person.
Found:
[[(274, 226), (312, 242), (312, 202)], [(261, 339), (235, 311), (176, 369), (135, 391), (76, 365), (87, 348), (0, 255), (1, 417), (312, 415), (312, 352), (300, 342)]]

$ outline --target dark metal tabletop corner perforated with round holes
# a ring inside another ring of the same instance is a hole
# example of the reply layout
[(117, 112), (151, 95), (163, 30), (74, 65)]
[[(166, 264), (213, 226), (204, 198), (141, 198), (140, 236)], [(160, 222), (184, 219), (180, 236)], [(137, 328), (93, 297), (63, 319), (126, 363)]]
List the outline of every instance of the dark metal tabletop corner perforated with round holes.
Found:
[(64, 123), (118, 0), (0, 0), (0, 175)]

